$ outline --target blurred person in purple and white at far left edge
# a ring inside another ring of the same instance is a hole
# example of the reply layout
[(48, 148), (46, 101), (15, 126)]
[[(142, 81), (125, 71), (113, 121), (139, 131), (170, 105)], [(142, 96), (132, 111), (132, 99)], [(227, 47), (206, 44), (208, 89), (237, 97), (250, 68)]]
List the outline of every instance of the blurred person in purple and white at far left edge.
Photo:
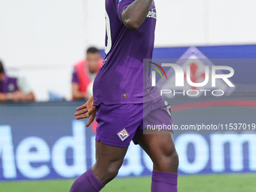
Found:
[(5, 70), (0, 61), (0, 102), (35, 101), (26, 78), (18, 70)]

